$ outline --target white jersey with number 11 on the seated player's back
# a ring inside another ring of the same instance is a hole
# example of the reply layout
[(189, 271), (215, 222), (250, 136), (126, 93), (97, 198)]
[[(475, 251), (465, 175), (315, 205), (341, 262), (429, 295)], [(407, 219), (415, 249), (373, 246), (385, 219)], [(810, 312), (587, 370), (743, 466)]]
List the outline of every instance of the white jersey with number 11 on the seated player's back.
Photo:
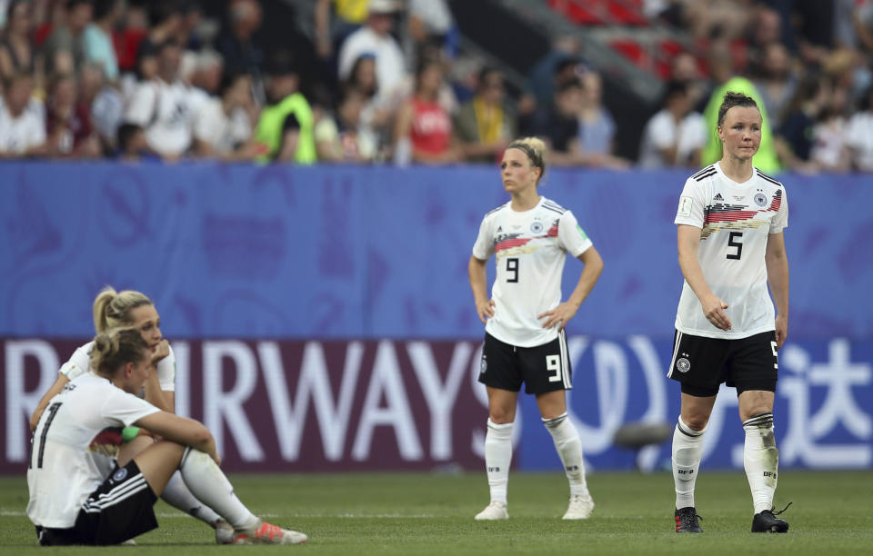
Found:
[(35, 525), (66, 529), (82, 503), (104, 480), (109, 455), (90, 446), (107, 429), (119, 429), (159, 412), (154, 405), (87, 372), (48, 402), (36, 425), (27, 467), (27, 517)]

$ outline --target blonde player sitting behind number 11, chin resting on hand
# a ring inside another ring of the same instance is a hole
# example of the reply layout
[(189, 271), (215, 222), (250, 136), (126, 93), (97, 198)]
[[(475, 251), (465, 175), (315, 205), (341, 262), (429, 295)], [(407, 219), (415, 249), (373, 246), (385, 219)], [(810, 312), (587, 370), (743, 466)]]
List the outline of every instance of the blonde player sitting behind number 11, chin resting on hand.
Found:
[[(161, 318), (152, 300), (140, 292), (133, 290), (115, 292), (115, 289), (106, 286), (94, 300), (94, 326), (96, 333), (130, 327), (142, 334), (143, 340), (152, 350), (151, 372), (143, 391), (138, 393), (156, 408), (173, 413), (176, 402), (176, 356), (161, 333)], [(48, 401), (64, 390), (67, 382), (88, 372), (92, 347), (93, 342), (85, 343), (75, 350), (69, 361), (61, 366), (57, 380), (48, 392), (45, 392), (30, 418), (31, 432), (35, 430), (36, 423), (39, 422)], [(124, 467), (126, 462), (152, 443), (154, 439), (146, 431), (140, 431), (136, 427), (127, 427), (124, 431), (105, 431), (97, 435), (95, 442), (92, 442), (89, 448), (89, 452), (92, 453), (89, 457), (101, 474), (106, 475), (115, 465), (114, 457)], [(174, 473), (166, 483), (161, 498), (171, 506), (189, 513), (215, 529), (216, 543), (229, 544), (234, 540), (234, 528), (222, 520), (215, 511), (198, 501), (185, 486), (179, 473)]]

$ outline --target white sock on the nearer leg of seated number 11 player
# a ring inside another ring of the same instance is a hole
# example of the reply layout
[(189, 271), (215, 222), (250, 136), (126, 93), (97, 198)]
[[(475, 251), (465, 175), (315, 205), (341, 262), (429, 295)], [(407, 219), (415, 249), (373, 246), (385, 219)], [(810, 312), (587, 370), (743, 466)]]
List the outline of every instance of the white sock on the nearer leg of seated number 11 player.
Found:
[(179, 471), (197, 500), (225, 518), (234, 529), (250, 529), (257, 525), (256, 516), (236, 498), (234, 486), (206, 452), (187, 448)]

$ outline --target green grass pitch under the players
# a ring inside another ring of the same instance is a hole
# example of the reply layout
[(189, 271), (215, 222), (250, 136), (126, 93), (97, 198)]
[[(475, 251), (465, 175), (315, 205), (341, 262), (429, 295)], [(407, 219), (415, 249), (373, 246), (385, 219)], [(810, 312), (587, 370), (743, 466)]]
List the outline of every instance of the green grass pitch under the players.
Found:
[(751, 497), (742, 472), (701, 473), (703, 534), (673, 530), (673, 481), (653, 474), (597, 472), (587, 521), (561, 521), (567, 482), (560, 472), (513, 472), (508, 521), (477, 522), (487, 504), (485, 473), (235, 475), (240, 498), (268, 521), (305, 531), (304, 546), (215, 546), (206, 525), (158, 501), (161, 527), (135, 547), (44, 549), (24, 514), (25, 478), (0, 477), (0, 554), (871, 554), (873, 472), (791, 472), (779, 476), (784, 535), (751, 534)]

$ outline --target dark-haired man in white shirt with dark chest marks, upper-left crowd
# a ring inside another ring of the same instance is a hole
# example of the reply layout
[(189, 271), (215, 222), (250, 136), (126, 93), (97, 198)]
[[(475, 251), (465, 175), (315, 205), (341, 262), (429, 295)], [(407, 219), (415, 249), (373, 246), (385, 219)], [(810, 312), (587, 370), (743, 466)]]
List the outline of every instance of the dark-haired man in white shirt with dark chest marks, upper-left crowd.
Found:
[(171, 160), (187, 154), (194, 138), (196, 97), (178, 77), (181, 54), (172, 41), (159, 47), (156, 77), (136, 85), (125, 113), (146, 130), (149, 148)]

